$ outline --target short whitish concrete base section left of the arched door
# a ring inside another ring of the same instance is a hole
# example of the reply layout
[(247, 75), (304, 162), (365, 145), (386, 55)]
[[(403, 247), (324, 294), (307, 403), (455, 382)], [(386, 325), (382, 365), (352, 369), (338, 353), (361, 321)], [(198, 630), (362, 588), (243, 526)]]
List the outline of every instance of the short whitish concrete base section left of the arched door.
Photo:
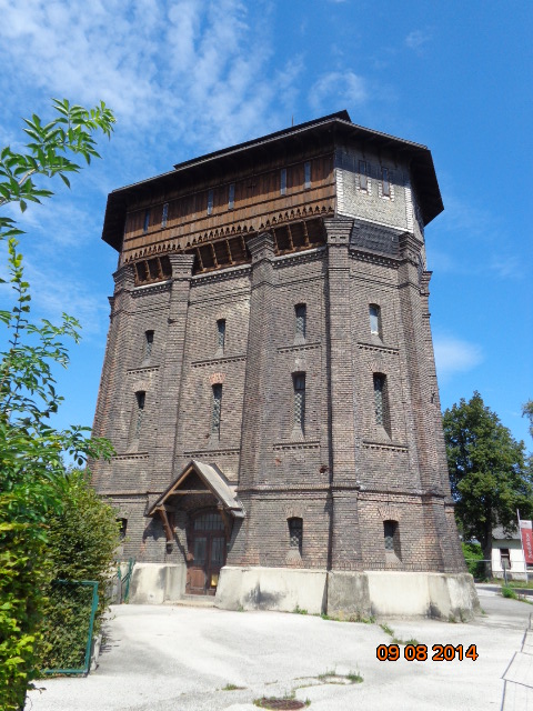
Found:
[(135, 563), (130, 583), (133, 604), (162, 604), (179, 600), (185, 590), (185, 565)]

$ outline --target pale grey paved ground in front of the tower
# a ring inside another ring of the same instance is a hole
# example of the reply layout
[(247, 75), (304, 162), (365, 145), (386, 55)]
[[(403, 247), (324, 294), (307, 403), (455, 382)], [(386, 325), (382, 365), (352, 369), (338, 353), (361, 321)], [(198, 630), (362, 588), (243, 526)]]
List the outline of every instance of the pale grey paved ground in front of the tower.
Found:
[[(376, 647), (391, 643), (378, 623), (115, 607), (98, 670), (87, 679), (46, 680), (46, 691), (30, 694), (27, 711), (257, 711), (254, 699), (293, 692), (314, 711), (500, 710), (502, 677), (522, 648), (533, 608), (489, 589), (479, 588), (479, 595), (485, 614), (472, 623), (388, 621), (399, 638), (428, 644), (430, 659), (413, 662), (403, 654), (378, 661)], [(464, 650), (476, 644), (479, 659), (431, 661), (438, 643)], [(320, 679), (326, 672), (338, 677)], [(331, 683), (355, 672), (361, 683)], [(242, 689), (224, 690), (228, 684)]]

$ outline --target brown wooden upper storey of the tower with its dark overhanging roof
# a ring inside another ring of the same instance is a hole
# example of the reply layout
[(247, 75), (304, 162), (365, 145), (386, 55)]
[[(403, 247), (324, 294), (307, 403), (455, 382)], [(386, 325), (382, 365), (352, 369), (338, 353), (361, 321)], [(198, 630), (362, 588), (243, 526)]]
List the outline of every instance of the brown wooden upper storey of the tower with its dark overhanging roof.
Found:
[(108, 197), (102, 239), (135, 262), (137, 281), (169, 271), (165, 254), (194, 253), (194, 271), (250, 260), (247, 239), (274, 234), (278, 253), (320, 244), (320, 217), (335, 213), (334, 153), (355, 142), (408, 164), (424, 223), (442, 210), (430, 151), (362, 129), (345, 111), (174, 167)]

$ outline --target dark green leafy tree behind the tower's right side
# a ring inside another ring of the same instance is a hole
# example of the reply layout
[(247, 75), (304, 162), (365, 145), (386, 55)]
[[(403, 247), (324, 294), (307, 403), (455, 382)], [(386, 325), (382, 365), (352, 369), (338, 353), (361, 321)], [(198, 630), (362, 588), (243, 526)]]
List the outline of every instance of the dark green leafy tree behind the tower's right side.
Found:
[(455, 514), (466, 540), (492, 557), (492, 530), (513, 530), (516, 510), (530, 518), (533, 488), (524, 443), (516, 442), (479, 392), (444, 412), (444, 437)]

